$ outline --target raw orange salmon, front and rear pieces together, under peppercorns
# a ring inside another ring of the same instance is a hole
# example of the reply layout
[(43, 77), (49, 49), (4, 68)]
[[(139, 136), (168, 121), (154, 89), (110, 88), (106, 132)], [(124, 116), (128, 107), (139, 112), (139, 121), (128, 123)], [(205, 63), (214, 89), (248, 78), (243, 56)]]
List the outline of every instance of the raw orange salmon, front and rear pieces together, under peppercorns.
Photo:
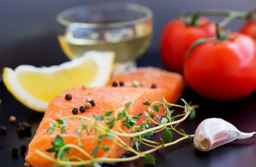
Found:
[[(137, 88), (131, 87), (131, 82), (133, 80), (145, 81), (147, 86)], [(123, 81), (123, 87), (112, 87), (113, 81)], [(156, 89), (149, 88), (152, 83), (157, 85)], [(116, 74), (110, 79), (109, 85), (101, 88), (74, 88), (67, 90), (60, 94), (58, 97), (53, 99), (48, 108), (46, 109), (44, 118), (39, 125), (35, 136), (33, 137), (31, 143), (28, 145), (28, 154), (26, 155), (26, 161), (35, 167), (50, 167), (54, 165), (54, 162), (42, 158), (40, 155), (36, 154), (35, 150), (39, 149), (45, 154), (54, 157), (54, 153), (46, 152), (46, 149), (51, 148), (51, 142), (54, 140), (55, 135), (49, 135), (47, 129), (49, 128), (49, 123), (56, 119), (62, 119), (65, 116), (72, 115), (72, 109), (74, 107), (78, 108), (85, 104), (87, 98), (93, 99), (96, 103), (95, 107), (87, 109), (84, 113), (79, 112), (78, 115), (86, 116), (90, 119), (95, 120), (93, 114), (100, 116), (104, 115), (107, 111), (116, 111), (118, 109), (123, 109), (124, 105), (132, 101), (131, 106), (127, 110), (131, 115), (137, 115), (141, 112), (147, 111), (148, 106), (143, 105), (146, 101), (159, 101), (162, 100), (164, 95), (165, 99), (169, 102), (175, 102), (178, 98), (180, 92), (183, 89), (183, 78), (177, 73), (170, 73), (158, 68), (139, 68), (136, 71), (127, 71), (125, 73)], [(70, 101), (65, 100), (66, 94), (72, 94), (73, 98)], [(157, 113), (156, 113), (157, 114)], [(160, 109), (159, 115), (164, 114), (163, 109)], [(111, 115), (113, 116), (114, 113)], [(141, 125), (145, 120), (144, 114), (141, 119), (137, 121), (137, 125)], [(102, 121), (99, 123), (104, 124)], [(60, 134), (64, 138), (66, 144), (76, 144), (78, 145), (77, 131), (76, 128), (81, 125), (80, 119), (72, 118), (68, 119), (68, 125), (65, 128), (67, 134)], [(121, 121), (117, 124), (127, 133), (132, 131), (123, 127)], [(116, 124), (113, 127), (114, 131), (119, 132)], [(99, 133), (99, 132), (98, 132)], [(96, 132), (87, 136), (85, 132), (82, 132), (81, 143), (83, 144), (83, 149), (89, 154), (96, 147), (94, 138)], [(120, 137), (125, 143), (130, 141), (128, 137)], [(115, 138), (113, 140), (116, 140)], [(101, 145), (107, 145), (110, 149), (105, 152), (102, 148), (99, 149), (96, 157), (109, 157), (118, 158), (121, 157), (125, 152), (125, 149), (120, 149), (120, 146), (115, 144), (113, 140), (103, 139)], [(77, 157), (88, 159), (86, 156), (81, 154), (75, 149), (71, 149), (68, 156), (75, 155)]]

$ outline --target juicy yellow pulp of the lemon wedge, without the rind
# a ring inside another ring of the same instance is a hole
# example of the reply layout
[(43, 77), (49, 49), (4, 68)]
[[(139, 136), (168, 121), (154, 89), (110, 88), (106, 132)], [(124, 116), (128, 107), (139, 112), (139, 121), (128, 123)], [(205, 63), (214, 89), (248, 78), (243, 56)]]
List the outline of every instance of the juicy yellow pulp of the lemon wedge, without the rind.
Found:
[[(23, 89), (26, 89), (29, 94), (33, 94), (36, 99), (51, 101), (63, 90), (81, 86), (81, 83), (90, 85), (97, 75), (97, 70), (97, 64), (94, 61), (86, 61), (82, 63), (82, 66), (71, 70), (57, 71), (53, 74), (19, 73), (18, 81)], [(85, 76), (84, 71), (86, 71)]]

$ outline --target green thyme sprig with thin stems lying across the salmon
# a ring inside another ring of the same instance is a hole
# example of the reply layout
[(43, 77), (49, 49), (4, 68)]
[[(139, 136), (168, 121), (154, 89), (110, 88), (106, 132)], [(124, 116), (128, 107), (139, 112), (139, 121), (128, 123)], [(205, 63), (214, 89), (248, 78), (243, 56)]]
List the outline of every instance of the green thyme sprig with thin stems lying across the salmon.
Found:
[[(182, 140), (192, 139), (194, 136), (187, 134), (183, 129), (176, 129), (178, 124), (187, 119), (187, 117), (189, 117), (189, 119), (193, 119), (195, 117), (195, 108), (197, 106), (191, 106), (191, 103), (187, 103), (184, 99), (182, 99), (182, 101), (184, 102), (184, 106), (170, 104), (164, 99), (164, 97), (163, 101), (154, 101), (152, 103), (146, 101), (143, 104), (148, 106), (148, 111), (143, 111), (137, 115), (128, 114), (127, 110), (132, 104), (132, 102), (128, 102), (125, 104), (123, 109), (117, 110), (115, 113), (113, 111), (108, 111), (104, 115), (93, 115), (95, 118), (94, 120), (81, 115), (70, 115), (63, 119), (57, 119), (56, 121), (51, 122), (49, 124), (49, 129), (47, 129), (49, 135), (54, 132), (55, 139), (51, 142), (52, 147), (46, 149), (46, 152), (53, 152), (54, 157), (51, 157), (38, 149), (36, 149), (36, 153), (61, 167), (82, 167), (89, 164), (93, 164), (94, 167), (100, 167), (101, 162), (126, 162), (140, 157), (144, 157), (146, 164), (155, 164), (154, 158), (150, 153), (160, 148), (177, 144)], [(184, 110), (183, 113), (173, 115), (174, 110), (170, 110), (170, 108), (174, 106), (182, 108)], [(164, 108), (165, 114), (161, 115), (161, 121), (159, 123), (156, 121), (156, 119), (159, 118), (159, 114), (156, 113), (159, 113), (161, 108)], [(142, 121), (142, 124), (138, 125), (137, 121), (141, 119), (143, 114), (146, 119)], [(66, 144), (64, 143), (63, 137), (61, 137), (61, 134), (67, 133), (65, 128), (68, 125), (68, 119), (71, 118), (78, 118), (82, 123), (76, 129), (79, 146), (75, 144)], [(152, 127), (152, 124), (156, 124), (158, 126)], [(117, 130), (114, 131), (113, 127), (117, 127)], [(131, 133), (125, 132), (124, 127), (130, 129), (131, 131), (129, 132)], [(83, 149), (81, 142), (82, 132), (84, 131), (88, 136), (93, 131), (96, 134), (94, 139), (96, 147), (90, 153)], [(145, 136), (160, 131), (164, 131), (164, 139), (166, 142), (161, 136), (159, 136), (161, 142), (155, 142), (145, 138)], [(173, 132), (180, 134), (182, 137), (173, 141)], [(128, 143), (123, 141), (122, 138), (125, 137), (130, 138)], [(100, 148), (102, 148), (104, 152), (108, 152), (110, 149), (108, 145), (102, 145), (102, 140), (104, 138), (112, 140), (115, 144), (120, 146), (120, 149), (126, 149), (129, 152), (133, 152), (135, 155), (133, 157), (125, 158), (97, 157), (97, 153)], [(152, 147), (152, 149), (141, 152), (141, 144)], [(135, 146), (135, 149), (132, 148), (133, 145)], [(77, 149), (79, 152), (84, 154), (87, 159), (82, 159), (76, 156), (69, 157), (68, 154), (71, 149)]]

